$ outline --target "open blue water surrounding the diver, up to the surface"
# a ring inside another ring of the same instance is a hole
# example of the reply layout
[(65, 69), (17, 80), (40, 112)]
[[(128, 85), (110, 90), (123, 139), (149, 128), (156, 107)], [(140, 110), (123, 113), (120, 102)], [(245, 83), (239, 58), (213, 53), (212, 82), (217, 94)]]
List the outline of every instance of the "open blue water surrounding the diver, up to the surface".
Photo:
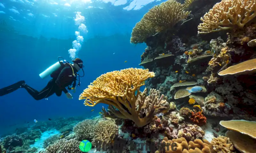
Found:
[[(57, 62), (58, 56), (71, 62), (68, 50), (72, 48), (72, 41), (76, 40), (76, 11), (85, 17), (88, 33), (83, 35), (84, 43), (77, 52), (77, 56), (84, 61), (85, 77), (81, 78), (81, 86), (76, 88), (76, 93), (71, 92), (74, 99), (69, 100), (62, 93), (61, 97), (54, 94), (48, 100), (36, 101), (25, 89), (2, 96), (0, 135), (26, 122), (33, 124), (34, 119), (98, 115), (101, 104), (85, 107), (83, 101), (78, 100), (83, 90), (103, 73), (142, 68), (138, 64), (146, 45), (130, 44), (132, 28), (149, 8), (163, 1), (137, 1), (67, 0), (64, 3), (60, 0), (2, 0), (0, 20), (4, 20), (5, 24), (0, 26), (11, 30), (0, 31), (0, 88), (25, 80), (40, 91), (51, 79), (39, 77), (44, 69)], [(140, 6), (140, 3), (144, 5)], [(14, 33), (11, 27), (19, 33)]]

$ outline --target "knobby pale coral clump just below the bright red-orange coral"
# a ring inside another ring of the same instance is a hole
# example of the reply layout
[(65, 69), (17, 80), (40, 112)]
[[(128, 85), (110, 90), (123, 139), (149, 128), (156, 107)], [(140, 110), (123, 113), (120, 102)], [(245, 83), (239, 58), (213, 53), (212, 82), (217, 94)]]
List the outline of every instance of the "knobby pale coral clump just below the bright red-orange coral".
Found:
[(178, 138), (184, 137), (187, 141), (194, 141), (195, 139), (202, 139), (205, 132), (198, 125), (185, 124), (180, 125)]

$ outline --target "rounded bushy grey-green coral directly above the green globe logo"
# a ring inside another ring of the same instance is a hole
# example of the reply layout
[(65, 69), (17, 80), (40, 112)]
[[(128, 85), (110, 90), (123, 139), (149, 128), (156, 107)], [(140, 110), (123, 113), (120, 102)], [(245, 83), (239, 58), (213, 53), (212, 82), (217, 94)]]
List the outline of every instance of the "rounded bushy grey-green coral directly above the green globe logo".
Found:
[(96, 120), (86, 119), (76, 124), (73, 131), (76, 133), (78, 140), (92, 140), (94, 126), (97, 123)]

